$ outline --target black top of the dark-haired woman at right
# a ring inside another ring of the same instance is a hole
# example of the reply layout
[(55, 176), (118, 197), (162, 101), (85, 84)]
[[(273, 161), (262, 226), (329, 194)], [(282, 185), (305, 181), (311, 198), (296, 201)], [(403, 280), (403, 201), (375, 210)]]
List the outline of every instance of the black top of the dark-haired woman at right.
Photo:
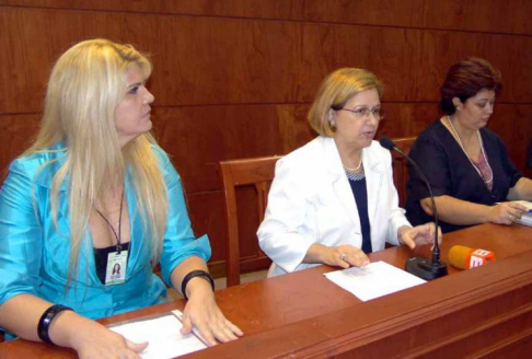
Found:
[[(488, 206), (506, 200), (508, 192), (519, 181), (521, 173), (510, 161), (500, 137), (488, 128), (481, 129), (481, 137), (494, 174), (491, 192), (488, 190), (454, 137), (439, 119), (419, 135), (412, 146), (409, 155), (427, 176), (435, 197), (448, 195)], [(419, 204), (420, 199), (429, 197), (425, 184), (410, 165), (408, 165), (408, 175), (406, 217), (414, 225), (433, 221)], [(439, 224), (443, 233), (470, 227), (443, 221), (439, 221)]]

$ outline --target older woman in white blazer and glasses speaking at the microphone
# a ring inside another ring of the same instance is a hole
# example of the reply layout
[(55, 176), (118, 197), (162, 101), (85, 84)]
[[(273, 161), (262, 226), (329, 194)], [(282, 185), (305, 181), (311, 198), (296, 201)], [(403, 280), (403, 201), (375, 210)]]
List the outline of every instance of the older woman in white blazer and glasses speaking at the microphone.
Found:
[[(309, 113), (317, 138), (279, 160), (257, 235), (268, 276), (317, 264), (366, 266), (384, 243), (432, 242), (432, 223), (413, 228), (398, 207), (388, 150), (373, 141), (382, 84), (362, 69), (338, 69)], [(441, 234), (439, 234), (441, 236)]]

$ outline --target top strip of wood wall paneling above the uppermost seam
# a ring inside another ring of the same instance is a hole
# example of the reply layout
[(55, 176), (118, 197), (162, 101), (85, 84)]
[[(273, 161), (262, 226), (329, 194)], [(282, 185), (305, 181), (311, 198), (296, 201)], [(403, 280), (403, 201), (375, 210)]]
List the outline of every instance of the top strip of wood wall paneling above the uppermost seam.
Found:
[(0, 0), (0, 5), (532, 35), (527, 0)]

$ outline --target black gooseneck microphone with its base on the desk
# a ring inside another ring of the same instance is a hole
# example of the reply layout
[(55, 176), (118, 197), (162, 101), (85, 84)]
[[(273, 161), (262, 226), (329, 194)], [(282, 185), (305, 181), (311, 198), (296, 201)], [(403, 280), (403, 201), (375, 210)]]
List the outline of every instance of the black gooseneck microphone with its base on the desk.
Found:
[(401, 155), (403, 155), (408, 161), (408, 163), (412, 164), (414, 169), (416, 169), (416, 172), (419, 174), (423, 182), (427, 186), (427, 189), (430, 194), (430, 200), (432, 201), (432, 210), (435, 213), (435, 224), (436, 224), (435, 245), (432, 247), (432, 260), (421, 258), (421, 257), (408, 258), (406, 260), (406, 266), (405, 266), (406, 271), (413, 274), (416, 277), (423, 278), (425, 280), (432, 280), (436, 278), (447, 276), (448, 275), (447, 264), (440, 262), (440, 245), (438, 244), (438, 210), (436, 208), (436, 201), (435, 201), (435, 196), (432, 195), (432, 188), (430, 188), (430, 184), (427, 177), (423, 173), (421, 169), (419, 169), (417, 163), (414, 162), (414, 160), (412, 160), (406, 153), (401, 151), (390, 138), (383, 136), (379, 140), (379, 143), (381, 143), (381, 146), (386, 150), (396, 151), (401, 153)]

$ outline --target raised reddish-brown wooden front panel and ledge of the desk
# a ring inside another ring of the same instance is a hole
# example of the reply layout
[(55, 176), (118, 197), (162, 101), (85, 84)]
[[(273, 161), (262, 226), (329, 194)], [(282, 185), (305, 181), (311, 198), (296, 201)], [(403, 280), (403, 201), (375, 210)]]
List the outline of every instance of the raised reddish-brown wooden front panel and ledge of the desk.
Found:
[(242, 352), (253, 352), (254, 358), (520, 354), (524, 350), (520, 346), (532, 348), (531, 296), (532, 251), (189, 357), (235, 358)]

